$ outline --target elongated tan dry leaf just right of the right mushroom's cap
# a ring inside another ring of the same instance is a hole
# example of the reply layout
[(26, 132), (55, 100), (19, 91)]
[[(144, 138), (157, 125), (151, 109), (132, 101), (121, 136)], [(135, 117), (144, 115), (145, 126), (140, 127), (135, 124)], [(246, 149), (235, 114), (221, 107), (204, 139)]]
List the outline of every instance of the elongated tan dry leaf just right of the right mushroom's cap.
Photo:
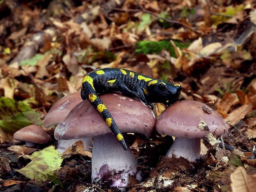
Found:
[(232, 111), (224, 120), (231, 124), (234, 125), (235, 123), (237, 123), (238, 121), (241, 121), (244, 116), (251, 111), (251, 108), (253, 106), (253, 103), (247, 103), (242, 105), (241, 107), (235, 109), (234, 111)]

